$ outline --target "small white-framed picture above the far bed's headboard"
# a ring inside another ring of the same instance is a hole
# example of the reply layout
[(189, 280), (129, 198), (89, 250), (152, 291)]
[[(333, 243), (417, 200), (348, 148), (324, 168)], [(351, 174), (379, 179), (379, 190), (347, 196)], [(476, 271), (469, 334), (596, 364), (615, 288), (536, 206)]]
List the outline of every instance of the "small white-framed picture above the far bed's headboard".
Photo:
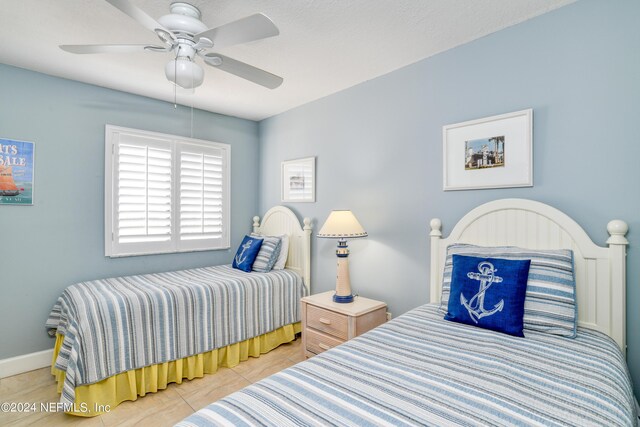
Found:
[(283, 202), (314, 203), (316, 201), (316, 158), (285, 160), (280, 174)]

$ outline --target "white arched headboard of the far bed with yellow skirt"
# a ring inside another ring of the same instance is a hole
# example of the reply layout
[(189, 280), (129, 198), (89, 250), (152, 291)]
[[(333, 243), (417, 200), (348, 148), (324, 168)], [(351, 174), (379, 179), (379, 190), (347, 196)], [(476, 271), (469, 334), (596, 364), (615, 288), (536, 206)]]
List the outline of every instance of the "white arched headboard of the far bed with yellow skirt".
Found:
[(289, 255), (286, 267), (302, 276), (307, 291), (311, 293), (311, 219), (304, 218), (302, 225), (296, 214), (284, 206), (274, 206), (260, 217), (253, 217), (253, 232), (270, 236), (289, 235)]

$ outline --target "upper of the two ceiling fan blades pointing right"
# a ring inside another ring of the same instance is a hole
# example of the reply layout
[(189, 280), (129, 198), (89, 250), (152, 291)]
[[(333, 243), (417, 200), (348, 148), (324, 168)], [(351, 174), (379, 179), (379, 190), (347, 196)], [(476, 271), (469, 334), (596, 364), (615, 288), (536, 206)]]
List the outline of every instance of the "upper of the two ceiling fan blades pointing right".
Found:
[(220, 27), (203, 31), (194, 36), (197, 42), (200, 37), (213, 41), (216, 49), (234, 44), (248, 43), (280, 34), (280, 30), (266, 15), (256, 13), (246, 18), (230, 22)]

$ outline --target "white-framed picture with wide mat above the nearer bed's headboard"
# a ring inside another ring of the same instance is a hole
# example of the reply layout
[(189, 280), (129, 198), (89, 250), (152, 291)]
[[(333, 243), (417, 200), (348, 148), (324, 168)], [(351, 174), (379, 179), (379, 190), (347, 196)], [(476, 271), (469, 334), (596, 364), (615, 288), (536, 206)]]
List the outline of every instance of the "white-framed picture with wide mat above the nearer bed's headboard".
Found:
[(533, 110), (442, 128), (443, 190), (533, 186)]

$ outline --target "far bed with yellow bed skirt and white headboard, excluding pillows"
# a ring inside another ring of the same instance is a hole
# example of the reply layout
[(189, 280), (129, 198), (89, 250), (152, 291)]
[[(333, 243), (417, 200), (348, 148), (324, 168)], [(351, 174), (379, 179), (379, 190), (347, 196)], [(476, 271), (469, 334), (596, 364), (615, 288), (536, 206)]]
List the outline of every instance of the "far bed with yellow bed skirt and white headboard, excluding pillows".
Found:
[(46, 322), (65, 412), (95, 416), (294, 340), (310, 286), (311, 221), (276, 206), (253, 218), (253, 232), (289, 236), (284, 269), (223, 265), (65, 289)]

